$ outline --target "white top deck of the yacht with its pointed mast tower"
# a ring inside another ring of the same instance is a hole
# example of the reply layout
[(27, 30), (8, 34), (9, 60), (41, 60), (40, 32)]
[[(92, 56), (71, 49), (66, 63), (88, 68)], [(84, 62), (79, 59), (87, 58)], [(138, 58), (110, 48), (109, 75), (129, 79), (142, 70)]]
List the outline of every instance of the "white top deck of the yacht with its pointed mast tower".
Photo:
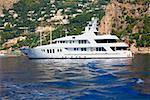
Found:
[(97, 19), (92, 19), (85, 27), (85, 31), (81, 35), (65, 36), (53, 40), (54, 43), (115, 43), (119, 38), (115, 35), (100, 35), (98, 33)]

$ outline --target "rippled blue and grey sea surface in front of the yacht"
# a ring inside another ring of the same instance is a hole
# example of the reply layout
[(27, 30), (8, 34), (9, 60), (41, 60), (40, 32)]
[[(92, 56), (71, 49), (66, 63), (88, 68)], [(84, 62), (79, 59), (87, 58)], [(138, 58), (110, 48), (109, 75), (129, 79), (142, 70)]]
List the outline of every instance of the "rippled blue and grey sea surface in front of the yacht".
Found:
[(150, 100), (150, 55), (0, 58), (0, 100)]

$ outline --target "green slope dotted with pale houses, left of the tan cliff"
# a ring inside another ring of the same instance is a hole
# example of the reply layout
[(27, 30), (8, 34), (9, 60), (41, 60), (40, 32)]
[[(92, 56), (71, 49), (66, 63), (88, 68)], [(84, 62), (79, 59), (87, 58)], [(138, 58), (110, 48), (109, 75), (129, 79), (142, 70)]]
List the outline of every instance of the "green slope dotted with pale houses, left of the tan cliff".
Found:
[[(20, 0), (11, 9), (3, 10), (3, 16), (0, 17), (0, 43), (3, 45), (10, 39), (27, 33), (27, 37), (33, 38), (27, 38), (13, 47), (32, 44), (32, 39), (35, 40), (33, 46), (37, 46), (38, 27), (50, 25), (54, 28), (53, 38), (64, 36), (66, 33), (79, 34), (91, 17), (103, 17), (103, 9), (107, 3), (107, 0)], [(49, 34), (46, 32), (44, 44), (48, 43), (47, 35)]]

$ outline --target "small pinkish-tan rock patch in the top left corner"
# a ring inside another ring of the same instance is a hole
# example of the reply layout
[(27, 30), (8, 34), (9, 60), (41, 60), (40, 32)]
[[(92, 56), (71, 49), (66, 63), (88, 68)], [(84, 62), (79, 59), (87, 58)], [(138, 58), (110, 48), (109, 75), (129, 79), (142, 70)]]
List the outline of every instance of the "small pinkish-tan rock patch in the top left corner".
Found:
[(18, 2), (19, 0), (0, 0), (0, 14), (2, 14), (2, 10), (10, 9), (13, 7), (13, 4)]

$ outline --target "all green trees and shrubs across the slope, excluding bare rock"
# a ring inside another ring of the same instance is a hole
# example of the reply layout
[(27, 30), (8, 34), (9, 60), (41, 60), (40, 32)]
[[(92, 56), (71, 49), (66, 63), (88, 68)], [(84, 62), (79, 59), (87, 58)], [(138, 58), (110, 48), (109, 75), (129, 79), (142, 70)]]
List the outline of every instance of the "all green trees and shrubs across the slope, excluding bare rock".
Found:
[[(123, 1), (123, 0), (120, 0)], [(65, 35), (78, 35), (84, 31), (84, 27), (92, 17), (98, 17), (99, 20), (104, 16), (102, 5), (106, 5), (110, 0), (98, 0), (96, 3), (91, 3), (88, 0), (56, 0), (54, 4), (50, 0), (20, 0), (14, 4), (11, 10), (17, 14), (13, 16), (8, 10), (3, 10), (4, 17), (0, 17), (0, 27), (5, 25), (4, 29), (0, 31), (0, 46), (9, 39), (24, 35), (24, 31), (28, 31), (26, 40), (20, 41), (14, 45), (13, 48), (22, 46), (35, 47), (39, 45), (39, 34), (34, 33), (37, 26), (46, 26), (53, 23), (48, 22), (47, 19), (54, 17), (58, 10), (62, 10), (62, 15), (68, 16), (69, 24), (53, 25), (53, 39), (63, 37)], [(132, 3), (150, 2), (150, 0), (132, 0)], [(80, 5), (79, 5), (80, 4)], [(86, 6), (87, 5), (87, 6)], [(80, 9), (80, 11), (78, 11)], [(132, 13), (135, 13), (133, 10)], [(76, 14), (76, 17), (69, 17)], [(43, 18), (42, 20), (39, 20)], [(113, 30), (118, 37), (123, 38), (129, 36), (130, 42), (136, 40), (137, 46), (150, 46), (150, 17), (145, 16), (144, 19), (137, 19), (130, 16), (126, 17), (127, 27), (124, 30)], [(144, 27), (139, 33), (132, 34), (133, 27), (139, 22), (144, 22)], [(23, 29), (20, 29), (23, 28)], [(43, 44), (49, 43), (49, 34), (43, 38)]]

